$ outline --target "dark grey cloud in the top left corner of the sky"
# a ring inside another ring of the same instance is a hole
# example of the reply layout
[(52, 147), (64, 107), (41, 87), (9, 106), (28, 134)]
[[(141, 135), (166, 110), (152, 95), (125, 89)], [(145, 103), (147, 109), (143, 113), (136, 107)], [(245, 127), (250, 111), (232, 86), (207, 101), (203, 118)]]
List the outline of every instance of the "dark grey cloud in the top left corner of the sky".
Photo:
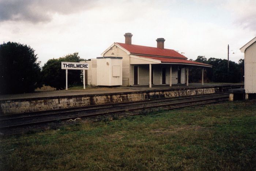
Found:
[(54, 13), (77, 13), (95, 7), (96, 3), (97, 0), (0, 0), (0, 22), (49, 22)]

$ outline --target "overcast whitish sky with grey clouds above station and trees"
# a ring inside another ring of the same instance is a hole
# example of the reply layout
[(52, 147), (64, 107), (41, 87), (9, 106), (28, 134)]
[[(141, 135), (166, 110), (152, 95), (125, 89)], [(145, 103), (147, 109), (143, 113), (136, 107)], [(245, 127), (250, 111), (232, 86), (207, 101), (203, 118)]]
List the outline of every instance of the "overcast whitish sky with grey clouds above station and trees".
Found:
[[(30, 45), (41, 65), (79, 52), (91, 59), (112, 43), (165, 48), (197, 56), (244, 58), (241, 48), (256, 36), (256, 0), (0, 0), (0, 44)], [(234, 54), (233, 54), (234, 52)]]

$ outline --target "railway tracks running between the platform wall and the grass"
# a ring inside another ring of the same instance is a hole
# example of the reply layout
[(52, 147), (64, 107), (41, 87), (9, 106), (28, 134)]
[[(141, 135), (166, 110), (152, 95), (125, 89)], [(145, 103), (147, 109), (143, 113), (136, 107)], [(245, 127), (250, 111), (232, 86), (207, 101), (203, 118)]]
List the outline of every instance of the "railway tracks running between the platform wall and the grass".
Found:
[(121, 102), (114, 104), (94, 105), (65, 110), (31, 112), (0, 117), (1, 132), (10, 128), (85, 118), (104, 114), (139, 115), (148, 111), (172, 110), (176, 108), (196, 106), (201, 104), (218, 103), (228, 100), (228, 93), (195, 95), (179, 98), (162, 98), (136, 102)]

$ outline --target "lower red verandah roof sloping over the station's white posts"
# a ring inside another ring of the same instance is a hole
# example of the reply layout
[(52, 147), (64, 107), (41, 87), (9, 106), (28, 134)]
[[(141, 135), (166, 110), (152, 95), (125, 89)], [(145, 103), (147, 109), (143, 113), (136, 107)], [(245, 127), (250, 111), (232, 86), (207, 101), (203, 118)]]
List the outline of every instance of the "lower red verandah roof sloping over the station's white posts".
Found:
[[(140, 56), (140, 55), (138, 55)], [(156, 59), (160, 60), (162, 63), (183, 63), (183, 64), (194, 64), (194, 65), (203, 65), (207, 67), (211, 67), (212, 65), (196, 62), (196, 61), (191, 61), (191, 60), (186, 60), (186, 59), (175, 59), (175, 58), (168, 58), (168, 57), (154, 57), (154, 56), (140, 56), (140, 57), (146, 57), (150, 59)]]

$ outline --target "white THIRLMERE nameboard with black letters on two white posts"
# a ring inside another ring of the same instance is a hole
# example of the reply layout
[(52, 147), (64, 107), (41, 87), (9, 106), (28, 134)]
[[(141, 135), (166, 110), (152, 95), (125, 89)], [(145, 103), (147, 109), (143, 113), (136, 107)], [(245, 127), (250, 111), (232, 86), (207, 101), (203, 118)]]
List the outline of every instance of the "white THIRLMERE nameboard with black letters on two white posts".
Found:
[(83, 89), (85, 90), (85, 71), (89, 69), (89, 64), (79, 62), (61, 62), (61, 69), (66, 69), (66, 90), (68, 90), (68, 69), (83, 70)]

